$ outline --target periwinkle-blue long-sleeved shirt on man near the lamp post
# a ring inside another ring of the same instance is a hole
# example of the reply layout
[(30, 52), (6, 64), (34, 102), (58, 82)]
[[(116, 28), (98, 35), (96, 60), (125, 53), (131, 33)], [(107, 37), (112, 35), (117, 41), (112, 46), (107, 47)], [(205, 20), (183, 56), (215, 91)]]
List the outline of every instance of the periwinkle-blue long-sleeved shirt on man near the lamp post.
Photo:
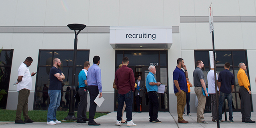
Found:
[(102, 92), (101, 70), (97, 64), (93, 64), (88, 69), (87, 84), (88, 86), (98, 86), (99, 91)]

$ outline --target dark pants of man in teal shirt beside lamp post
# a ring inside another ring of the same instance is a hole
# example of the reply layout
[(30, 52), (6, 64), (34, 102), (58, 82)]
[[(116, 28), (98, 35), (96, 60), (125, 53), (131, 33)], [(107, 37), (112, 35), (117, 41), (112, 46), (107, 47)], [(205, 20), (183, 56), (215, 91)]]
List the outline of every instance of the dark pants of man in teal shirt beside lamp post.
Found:
[(77, 120), (86, 120), (88, 90), (85, 87), (81, 87), (78, 89), (78, 94), (80, 96), (80, 103), (77, 109)]

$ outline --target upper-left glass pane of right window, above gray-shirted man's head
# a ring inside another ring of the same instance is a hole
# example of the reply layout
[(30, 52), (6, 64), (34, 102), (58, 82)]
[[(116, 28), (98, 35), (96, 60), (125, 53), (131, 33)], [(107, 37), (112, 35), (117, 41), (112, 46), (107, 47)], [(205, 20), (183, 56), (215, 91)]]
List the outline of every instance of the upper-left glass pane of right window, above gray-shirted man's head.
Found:
[(195, 51), (195, 63), (197, 60), (202, 60), (204, 66), (210, 66), (208, 51)]

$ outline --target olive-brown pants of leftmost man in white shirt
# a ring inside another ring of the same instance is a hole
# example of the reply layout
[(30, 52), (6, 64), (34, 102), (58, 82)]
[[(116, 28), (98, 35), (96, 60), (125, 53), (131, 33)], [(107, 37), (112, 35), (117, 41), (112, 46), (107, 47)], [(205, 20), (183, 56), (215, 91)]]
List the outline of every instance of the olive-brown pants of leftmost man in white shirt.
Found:
[(16, 120), (21, 120), (21, 112), (23, 112), (23, 116), (25, 119), (29, 119), (28, 117), (28, 96), (30, 94), (30, 90), (22, 89), (18, 94), (18, 104), (16, 110)]

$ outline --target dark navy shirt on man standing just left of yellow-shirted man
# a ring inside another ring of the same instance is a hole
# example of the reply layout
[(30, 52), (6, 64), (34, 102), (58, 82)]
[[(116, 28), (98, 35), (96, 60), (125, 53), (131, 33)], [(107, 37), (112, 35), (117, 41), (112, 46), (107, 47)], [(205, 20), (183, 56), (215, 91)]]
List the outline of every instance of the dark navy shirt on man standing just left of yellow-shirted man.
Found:
[(231, 73), (228, 69), (225, 69), (219, 73), (219, 82), (220, 84), (220, 92), (222, 93), (231, 93), (231, 85), (235, 84), (234, 74)]

